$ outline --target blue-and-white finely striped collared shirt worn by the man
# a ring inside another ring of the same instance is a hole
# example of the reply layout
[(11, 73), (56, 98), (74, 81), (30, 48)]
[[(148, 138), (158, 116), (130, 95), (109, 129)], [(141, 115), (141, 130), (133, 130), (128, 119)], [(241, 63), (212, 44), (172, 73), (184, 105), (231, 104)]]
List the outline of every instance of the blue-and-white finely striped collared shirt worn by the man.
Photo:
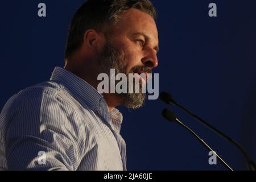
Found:
[(56, 67), (50, 81), (21, 90), (0, 114), (0, 168), (126, 170), (122, 114), (86, 81)]

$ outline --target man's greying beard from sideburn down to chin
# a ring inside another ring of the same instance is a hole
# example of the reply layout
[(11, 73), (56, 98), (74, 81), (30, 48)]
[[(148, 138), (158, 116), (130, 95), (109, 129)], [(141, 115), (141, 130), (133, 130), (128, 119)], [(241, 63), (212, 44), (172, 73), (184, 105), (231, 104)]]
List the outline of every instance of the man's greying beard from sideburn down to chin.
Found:
[[(108, 74), (110, 77), (110, 69), (115, 69), (115, 74), (118, 73), (125, 73), (125, 66), (122, 64), (122, 60), (125, 58), (121, 56), (119, 51), (115, 49), (110, 41), (106, 43), (106, 46), (104, 47), (104, 50), (102, 51), (100, 55), (99, 63), (104, 70), (105, 73)], [(138, 69), (138, 67), (133, 68), (133, 70)], [(131, 72), (133, 73), (133, 72)], [(125, 73), (127, 77), (127, 88), (129, 86), (129, 77), (128, 73)], [(119, 81), (115, 81), (115, 85), (117, 85)], [(133, 81), (134, 85), (134, 81)], [(144, 101), (146, 100), (146, 94), (142, 93), (142, 82), (140, 82), (140, 93), (115, 93), (115, 96), (118, 98), (118, 100), (121, 101), (123, 106), (126, 106), (129, 109), (138, 109), (139, 107), (142, 107), (144, 105)], [(135, 85), (133, 86), (135, 89)]]

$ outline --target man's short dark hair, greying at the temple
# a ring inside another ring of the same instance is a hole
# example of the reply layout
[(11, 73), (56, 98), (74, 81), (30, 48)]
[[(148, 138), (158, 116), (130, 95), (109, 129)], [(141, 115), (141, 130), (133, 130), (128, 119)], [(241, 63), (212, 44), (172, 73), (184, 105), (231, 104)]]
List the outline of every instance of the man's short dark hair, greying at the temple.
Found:
[(155, 7), (149, 0), (88, 0), (75, 13), (71, 21), (65, 47), (68, 59), (81, 46), (84, 33), (90, 28), (108, 33), (122, 13), (129, 9), (141, 10), (156, 19)]

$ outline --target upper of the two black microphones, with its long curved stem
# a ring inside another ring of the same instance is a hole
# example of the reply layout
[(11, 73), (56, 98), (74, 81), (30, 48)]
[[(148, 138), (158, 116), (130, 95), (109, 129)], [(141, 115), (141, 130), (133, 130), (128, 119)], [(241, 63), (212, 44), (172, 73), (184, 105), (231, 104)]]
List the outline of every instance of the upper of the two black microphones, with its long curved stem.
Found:
[(253, 162), (253, 160), (251, 160), (249, 155), (246, 154), (246, 152), (243, 150), (243, 148), (240, 146), (240, 144), (238, 144), (235, 140), (233, 140), (232, 138), (228, 137), (227, 135), (222, 133), (220, 130), (217, 130), (215, 127), (209, 125), (209, 123), (207, 123), (206, 121), (204, 121), (203, 119), (201, 119), (197, 115), (193, 114), (191, 111), (189, 111), (185, 107), (183, 107), (180, 104), (178, 104), (174, 100), (174, 98), (172, 97), (171, 94), (168, 94), (167, 92), (162, 92), (162, 93), (160, 93), (159, 98), (160, 98), (160, 100), (162, 100), (166, 104), (172, 104), (172, 105), (175, 105), (175, 106), (179, 107), (180, 109), (184, 110), (185, 113), (188, 113), (189, 115), (191, 115), (193, 118), (195, 118), (201, 124), (203, 124), (204, 126), (208, 127), (210, 130), (214, 131), (214, 133), (216, 133), (216, 134), (220, 135), (220, 137), (228, 140), (228, 142), (233, 143), (240, 150), (242, 155), (246, 158), (247, 167), (249, 168), (249, 170), (250, 171), (256, 171), (256, 165)]

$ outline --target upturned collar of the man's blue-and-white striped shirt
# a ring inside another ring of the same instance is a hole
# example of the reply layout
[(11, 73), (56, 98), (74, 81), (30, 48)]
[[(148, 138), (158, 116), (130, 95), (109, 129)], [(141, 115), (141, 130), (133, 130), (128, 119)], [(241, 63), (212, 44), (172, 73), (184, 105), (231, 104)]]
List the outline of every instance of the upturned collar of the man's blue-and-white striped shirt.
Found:
[(112, 129), (120, 133), (122, 113), (115, 108), (109, 113), (104, 97), (92, 85), (60, 67), (54, 69), (50, 80), (64, 85), (83, 107), (89, 106), (94, 112), (100, 114), (112, 126)]

